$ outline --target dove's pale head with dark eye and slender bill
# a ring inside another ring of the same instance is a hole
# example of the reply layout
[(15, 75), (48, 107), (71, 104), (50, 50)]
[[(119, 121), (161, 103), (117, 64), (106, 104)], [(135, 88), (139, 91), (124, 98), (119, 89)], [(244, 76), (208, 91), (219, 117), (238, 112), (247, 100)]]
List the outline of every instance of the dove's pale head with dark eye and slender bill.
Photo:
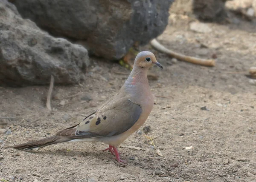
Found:
[(137, 54), (134, 61), (134, 67), (150, 68), (152, 65), (157, 65), (163, 69), (163, 66), (157, 62), (157, 59), (152, 52), (142, 51)]

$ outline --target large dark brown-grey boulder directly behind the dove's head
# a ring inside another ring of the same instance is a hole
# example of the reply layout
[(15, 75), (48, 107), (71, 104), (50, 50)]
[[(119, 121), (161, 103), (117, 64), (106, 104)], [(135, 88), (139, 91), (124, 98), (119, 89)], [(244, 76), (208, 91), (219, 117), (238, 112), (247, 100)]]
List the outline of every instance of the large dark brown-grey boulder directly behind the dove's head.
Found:
[(173, 0), (10, 0), (20, 14), (58, 36), (86, 41), (94, 54), (120, 59), (137, 41), (166, 28)]

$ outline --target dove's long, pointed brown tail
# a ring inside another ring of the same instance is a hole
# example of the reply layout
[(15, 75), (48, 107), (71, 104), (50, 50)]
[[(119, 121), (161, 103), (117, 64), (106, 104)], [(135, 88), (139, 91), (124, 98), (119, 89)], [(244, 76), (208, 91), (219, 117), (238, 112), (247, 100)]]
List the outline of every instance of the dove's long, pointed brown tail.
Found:
[(73, 140), (72, 138), (66, 138), (66, 137), (60, 137), (60, 136), (53, 136), (49, 137), (46, 139), (40, 139), (37, 141), (33, 142), (26, 142), (23, 144), (18, 144), (18, 145), (12, 145), (12, 146), (7, 146), (5, 148), (16, 148), (16, 149), (23, 149), (23, 150), (29, 150), (33, 148), (39, 148), (39, 147), (44, 147), (47, 145), (52, 145), (55, 143), (62, 143), (62, 142), (68, 142), (70, 140)]

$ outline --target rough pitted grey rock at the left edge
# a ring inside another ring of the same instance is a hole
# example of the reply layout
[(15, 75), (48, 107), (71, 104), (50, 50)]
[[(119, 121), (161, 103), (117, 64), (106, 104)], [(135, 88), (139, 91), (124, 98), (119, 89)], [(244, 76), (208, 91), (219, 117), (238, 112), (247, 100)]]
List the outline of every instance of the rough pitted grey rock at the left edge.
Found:
[(20, 17), (16, 7), (0, 1), (0, 85), (73, 84), (89, 63), (87, 50), (41, 31)]

